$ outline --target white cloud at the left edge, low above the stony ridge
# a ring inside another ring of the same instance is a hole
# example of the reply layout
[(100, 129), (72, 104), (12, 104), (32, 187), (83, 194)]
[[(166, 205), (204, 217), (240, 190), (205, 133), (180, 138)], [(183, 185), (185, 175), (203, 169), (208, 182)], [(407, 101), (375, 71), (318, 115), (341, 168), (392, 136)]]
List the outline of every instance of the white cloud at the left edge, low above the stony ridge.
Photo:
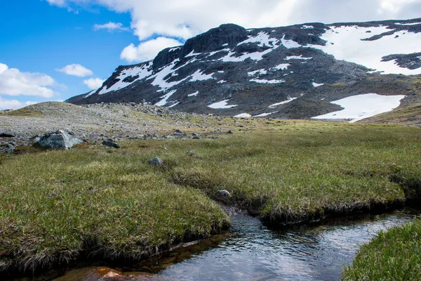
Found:
[(0, 63), (1, 95), (51, 98), (55, 92), (48, 86), (55, 86), (55, 81), (47, 74), (20, 72)]

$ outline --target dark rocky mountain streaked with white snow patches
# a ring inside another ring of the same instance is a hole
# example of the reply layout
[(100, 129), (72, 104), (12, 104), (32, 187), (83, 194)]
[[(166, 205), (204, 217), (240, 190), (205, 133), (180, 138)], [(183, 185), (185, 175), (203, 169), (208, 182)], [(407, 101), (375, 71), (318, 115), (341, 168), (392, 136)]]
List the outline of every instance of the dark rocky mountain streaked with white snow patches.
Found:
[(100, 89), (67, 102), (356, 121), (420, 103), (420, 74), (421, 18), (250, 30), (227, 24), (154, 60), (119, 66)]

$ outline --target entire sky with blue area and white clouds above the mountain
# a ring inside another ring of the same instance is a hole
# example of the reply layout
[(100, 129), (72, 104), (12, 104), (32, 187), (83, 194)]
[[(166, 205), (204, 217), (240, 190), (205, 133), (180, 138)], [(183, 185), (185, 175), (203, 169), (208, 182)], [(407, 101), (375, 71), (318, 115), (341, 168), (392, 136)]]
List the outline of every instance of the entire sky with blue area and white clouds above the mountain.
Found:
[(66, 100), (119, 65), (222, 23), (246, 28), (421, 17), (421, 0), (5, 0), (0, 110)]

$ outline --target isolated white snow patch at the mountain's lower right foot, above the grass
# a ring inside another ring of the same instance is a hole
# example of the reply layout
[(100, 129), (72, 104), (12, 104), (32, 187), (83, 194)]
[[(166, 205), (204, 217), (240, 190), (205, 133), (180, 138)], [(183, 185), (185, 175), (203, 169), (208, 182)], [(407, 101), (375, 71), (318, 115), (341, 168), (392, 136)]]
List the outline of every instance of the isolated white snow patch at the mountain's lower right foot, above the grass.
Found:
[(344, 110), (330, 112), (326, 115), (312, 117), (313, 119), (351, 119), (350, 123), (380, 113), (394, 110), (406, 96), (380, 96), (377, 93), (350, 96), (331, 103), (344, 107)]

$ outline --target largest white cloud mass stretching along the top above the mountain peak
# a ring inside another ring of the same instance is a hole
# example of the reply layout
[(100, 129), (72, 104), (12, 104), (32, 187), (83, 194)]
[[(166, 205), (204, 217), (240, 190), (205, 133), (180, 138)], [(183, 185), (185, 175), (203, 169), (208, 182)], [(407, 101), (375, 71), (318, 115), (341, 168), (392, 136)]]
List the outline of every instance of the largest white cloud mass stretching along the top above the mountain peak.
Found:
[(419, 17), (417, 12), (421, 8), (421, 0), (47, 1), (50, 4), (56, 2), (57, 6), (100, 5), (117, 13), (130, 13), (131, 28), (139, 40), (144, 43), (139, 46), (131, 44), (123, 50), (121, 58), (129, 62), (151, 58), (148, 51), (152, 49), (153, 45), (157, 45), (156, 41), (147, 44), (151, 38), (185, 40), (222, 23), (231, 22), (246, 28), (253, 28), (279, 27), (306, 22), (332, 23), (408, 19)]

